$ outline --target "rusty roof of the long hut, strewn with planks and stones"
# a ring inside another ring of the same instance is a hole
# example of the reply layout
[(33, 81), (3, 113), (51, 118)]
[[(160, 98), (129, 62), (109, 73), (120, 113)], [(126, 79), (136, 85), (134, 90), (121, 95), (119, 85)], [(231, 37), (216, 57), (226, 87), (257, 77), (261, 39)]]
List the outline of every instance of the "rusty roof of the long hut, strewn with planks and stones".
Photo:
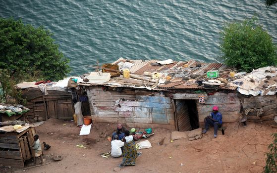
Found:
[[(167, 89), (205, 89), (205, 88), (222, 88), (234, 90), (236, 87), (226, 87), (227, 80), (230, 78), (229, 73), (234, 69), (221, 63), (203, 63), (195, 60), (190, 61), (165, 61), (156, 60), (127, 60), (119, 58), (112, 65), (118, 65), (119, 70), (104, 68), (120, 73), (118, 77), (111, 77), (106, 83), (99, 83), (95, 80), (81, 82), (80, 86), (104, 85), (110, 87), (134, 87), (147, 88), (150, 90), (167, 90)], [(105, 66), (105, 65), (103, 65)], [(102, 67), (103, 67), (102, 66)], [(92, 66), (96, 69), (101, 67)], [(123, 77), (123, 71), (129, 71), (128, 79)], [(208, 79), (208, 71), (217, 71), (216, 78)], [(84, 77), (87, 78), (87, 77)], [(210, 80), (210, 81), (209, 81)], [(116, 84), (116, 85), (115, 85)]]

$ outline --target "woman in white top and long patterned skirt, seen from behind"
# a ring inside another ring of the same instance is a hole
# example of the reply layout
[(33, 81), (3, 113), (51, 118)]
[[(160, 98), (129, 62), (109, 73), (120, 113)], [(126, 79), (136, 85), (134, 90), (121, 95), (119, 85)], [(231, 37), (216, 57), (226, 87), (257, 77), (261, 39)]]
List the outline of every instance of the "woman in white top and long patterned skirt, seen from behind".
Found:
[(136, 143), (137, 138), (134, 135), (130, 135), (128, 130), (124, 131), (125, 137), (123, 137), (122, 141), (124, 142), (124, 149), (123, 149), (123, 159), (121, 164), (119, 165), (120, 168), (124, 166), (136, 165), (137, 159), (137, 149)]

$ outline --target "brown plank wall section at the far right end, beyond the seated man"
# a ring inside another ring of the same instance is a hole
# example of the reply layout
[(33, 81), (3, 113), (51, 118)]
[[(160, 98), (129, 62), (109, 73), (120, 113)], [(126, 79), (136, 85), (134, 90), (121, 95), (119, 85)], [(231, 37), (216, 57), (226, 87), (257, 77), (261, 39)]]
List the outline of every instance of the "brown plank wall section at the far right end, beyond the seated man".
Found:
[(241, 103), (243, 110), (256, 108), (263, 111), (263, 114), (257, 116), (257, 111), (249, 112), (247, 119), (251, 121), (263, 121), (267, 124), (276, 125), (274, 121), (277, 116), (277, 95), (258, 95), (249, 98), (242, 97)]

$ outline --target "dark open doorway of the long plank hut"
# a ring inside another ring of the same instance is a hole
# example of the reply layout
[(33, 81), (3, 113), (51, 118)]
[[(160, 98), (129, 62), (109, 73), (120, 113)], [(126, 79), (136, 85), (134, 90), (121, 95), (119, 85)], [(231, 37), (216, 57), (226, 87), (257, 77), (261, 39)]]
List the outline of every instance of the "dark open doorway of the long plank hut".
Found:
[(199, 128), (196, 100), (175, 100), (175, 109), (179, 131)]

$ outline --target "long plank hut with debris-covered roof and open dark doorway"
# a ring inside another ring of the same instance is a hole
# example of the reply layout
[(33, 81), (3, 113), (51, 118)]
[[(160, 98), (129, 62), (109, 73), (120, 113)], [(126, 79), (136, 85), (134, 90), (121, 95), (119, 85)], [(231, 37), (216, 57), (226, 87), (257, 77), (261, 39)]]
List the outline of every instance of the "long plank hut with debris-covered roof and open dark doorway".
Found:
[[(111, 65), (117, 65), (118, 69), (103, 70), (121, 73), (120, 76), (107, 79), (107, 75), (99, 72), (97, 79), (93, 77), (95, 74), (87, 74), (85, 78), (88, 81), (78, 83), (87, 92), (94, 122), (185, 131), (203, 126), (203, 120), (210, 114), (213, 105), (218, 105), (223, 122), (248, 118), (275, 123), (277, 85), (268, 81), (269, 88), (261, 87), (267, 82), (267, 75), (260, 77), (263, 79), (256, 78), (256, 87), (249, 87), (247, 80), (251, 79), (247, 76), (252, 75), (253, 78), (254, 72), (237, 73), (221, 63), (119, 58)], [(122, 76), (123, 69), (129, 71), (127, 78)], [(272, 77), (277, 75), (276, 70), (268, 71)], [(219, 75), (208, 79), (207, 72)], [(258, 91), (257, 86), (260, 86)], [(255, 95), (257, 92), (259, 96)], [(257, 111), (259, 116), (255, 114)]]

